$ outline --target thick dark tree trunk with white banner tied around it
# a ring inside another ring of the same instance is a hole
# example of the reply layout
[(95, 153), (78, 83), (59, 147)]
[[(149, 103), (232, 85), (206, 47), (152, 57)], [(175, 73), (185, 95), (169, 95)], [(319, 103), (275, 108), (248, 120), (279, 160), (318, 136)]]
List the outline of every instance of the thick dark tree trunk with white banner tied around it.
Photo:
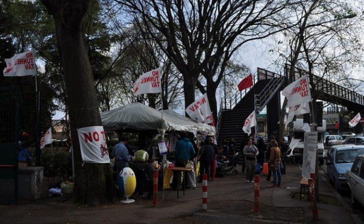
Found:
[(110, 163), (84, 163), (77, 128), (101, 126), (92, 69), (84, 47), (81, 21), (89, 1), (42, 0), (56, 22), (58, 48), (66, 81), (67, 104), (75, 156), (75, 199), (89, 205), (112, 200)]

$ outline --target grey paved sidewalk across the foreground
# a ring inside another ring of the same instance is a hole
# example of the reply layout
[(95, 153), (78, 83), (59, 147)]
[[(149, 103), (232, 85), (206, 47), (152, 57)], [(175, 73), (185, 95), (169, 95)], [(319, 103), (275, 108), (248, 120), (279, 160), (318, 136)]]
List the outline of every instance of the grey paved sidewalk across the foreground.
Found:
[[(238, 167), (241, 170), (241, 167)], [(301, 170), (287, 165), (282, 188), (271, 189), (260, 176), (260, 212), (254, 215), (254, 184), (245, 176), (225, 175), (208, 183), (208, 210), (202, 210), (202, 186), (186, 190), (186, 195), (159, 191), (158, 207), (152, 200), (135, 196), (131, 204), (116, 202), (99, 207), (72, 203), (72, 198), (46, 198), (21, 202), (17, 206), (0, 206), (0, 223), (362, 223), (352, 214), (350, 206), (317, 203), (319, 219), (312, 219), (310, 202), (292, 199), (299, 195)], [(320, 195), (336, 200), (324, 175), (320, 175)], [(337, 201), (337, 200), (336, 200)], [(340, 201), (340, 200), (339, 200)]]

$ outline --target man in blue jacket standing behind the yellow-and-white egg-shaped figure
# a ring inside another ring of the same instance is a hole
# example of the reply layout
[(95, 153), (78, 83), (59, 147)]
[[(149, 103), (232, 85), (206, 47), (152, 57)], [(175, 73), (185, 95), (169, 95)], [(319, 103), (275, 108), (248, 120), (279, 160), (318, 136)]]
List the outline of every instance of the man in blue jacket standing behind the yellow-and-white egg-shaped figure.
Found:
[(119, 138), (119, 141), (120, 142), (114, 146), (114, 148), (111, 152), (111, 157), (112, 158), (115, 157), (115, 163), (116, 163), (118, 175), (119, 175), (120, 171), (123, 170), (124, 167), (129, 167), (128, 162), (130, 160), (128, 150), (125, 147), (125, 144), (127, 143), (128, 138), (125, 136), (121, 136)]

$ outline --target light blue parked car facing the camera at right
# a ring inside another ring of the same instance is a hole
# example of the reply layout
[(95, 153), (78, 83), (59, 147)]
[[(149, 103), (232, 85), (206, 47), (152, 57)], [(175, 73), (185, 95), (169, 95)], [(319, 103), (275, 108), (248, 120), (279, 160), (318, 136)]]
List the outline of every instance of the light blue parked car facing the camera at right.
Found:
[(337, 191), (349, 190), (346, 183), (346, 170), (350, 169), (357, 155), (364, 154), (364, 146), (332, 146), (327, 153), (327, 173), (330, 183)]

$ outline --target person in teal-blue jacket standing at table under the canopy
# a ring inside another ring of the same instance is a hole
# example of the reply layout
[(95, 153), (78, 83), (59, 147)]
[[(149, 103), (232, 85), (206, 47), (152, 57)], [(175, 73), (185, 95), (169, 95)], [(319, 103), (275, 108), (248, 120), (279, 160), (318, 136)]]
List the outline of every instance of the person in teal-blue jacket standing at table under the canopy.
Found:
[[(176, 147), (175, 147), (174, 166), (175, 167), (186, 167), (187, 161), (189, 159), (194, 158), (196, 152), (195, 152), (195, 149), (194, 149), (192, 143), (190, 142), (190, 139), (188, 138), (186, 131), (182, 131), (180, 133), (180, 138), (181, 139), (177, 142)], [(179, 181), (180, 176), (181, 176), (180, 171), (173, 172), (173, 184), (172, 184), (173, 188), (178, 187), (178, 181)]]

